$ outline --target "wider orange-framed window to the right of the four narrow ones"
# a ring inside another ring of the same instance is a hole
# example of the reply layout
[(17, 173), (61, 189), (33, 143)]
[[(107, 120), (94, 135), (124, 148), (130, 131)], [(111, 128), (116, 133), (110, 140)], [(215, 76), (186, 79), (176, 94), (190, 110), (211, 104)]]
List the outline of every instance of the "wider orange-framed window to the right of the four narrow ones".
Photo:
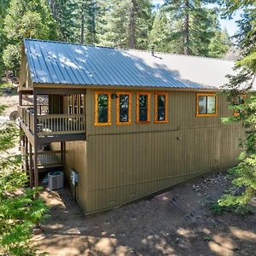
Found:
[(216, 94), (196, 94), (196, 116), (217, 116), (218, 102)]

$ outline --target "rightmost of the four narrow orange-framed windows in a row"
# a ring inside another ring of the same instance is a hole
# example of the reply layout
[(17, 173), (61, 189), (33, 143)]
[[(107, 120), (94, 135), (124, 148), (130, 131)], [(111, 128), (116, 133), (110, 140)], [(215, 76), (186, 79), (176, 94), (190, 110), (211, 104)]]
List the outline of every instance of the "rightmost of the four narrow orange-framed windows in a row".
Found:
[(167, 93), (154, 94), (154, 123), (167, 123)]

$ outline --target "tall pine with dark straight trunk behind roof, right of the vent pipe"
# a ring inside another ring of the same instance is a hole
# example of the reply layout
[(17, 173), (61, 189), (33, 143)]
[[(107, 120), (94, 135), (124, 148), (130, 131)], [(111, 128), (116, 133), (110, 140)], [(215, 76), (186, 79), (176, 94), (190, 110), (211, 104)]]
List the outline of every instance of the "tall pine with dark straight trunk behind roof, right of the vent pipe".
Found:
[[(205, 3), (205, 2), (204, 2)], [(170, 40), (175, 52), (184, 55), (207, 55), (213, 36), (212, 13), (201, 0), (166, 0), (166, 12), (174, 17)]]

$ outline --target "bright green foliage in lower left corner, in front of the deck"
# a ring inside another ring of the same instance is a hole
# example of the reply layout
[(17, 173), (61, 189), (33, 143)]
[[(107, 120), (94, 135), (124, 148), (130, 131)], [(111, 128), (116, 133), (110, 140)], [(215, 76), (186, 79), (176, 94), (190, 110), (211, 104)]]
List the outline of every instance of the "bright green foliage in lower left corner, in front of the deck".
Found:
[[(6, 107), (0, 105), (0, 114)], [(26, 172), (20, 170), (20, 154), (9, 149), (18, 143), (19, 131), (13, 122), (0, 128), (0, 254), (35, 255), (30, 246), (32, 227), (47, 218), (48, 208), (38, 198), (39, 188), (26, 188)]]

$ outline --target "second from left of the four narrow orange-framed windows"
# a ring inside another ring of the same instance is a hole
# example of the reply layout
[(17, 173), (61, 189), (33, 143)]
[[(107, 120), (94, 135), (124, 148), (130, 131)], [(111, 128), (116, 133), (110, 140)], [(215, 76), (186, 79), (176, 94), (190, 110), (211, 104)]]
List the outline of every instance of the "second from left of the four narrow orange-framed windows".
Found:
[(117, 92), (116, 124), (131, 125), (131, 93)]

